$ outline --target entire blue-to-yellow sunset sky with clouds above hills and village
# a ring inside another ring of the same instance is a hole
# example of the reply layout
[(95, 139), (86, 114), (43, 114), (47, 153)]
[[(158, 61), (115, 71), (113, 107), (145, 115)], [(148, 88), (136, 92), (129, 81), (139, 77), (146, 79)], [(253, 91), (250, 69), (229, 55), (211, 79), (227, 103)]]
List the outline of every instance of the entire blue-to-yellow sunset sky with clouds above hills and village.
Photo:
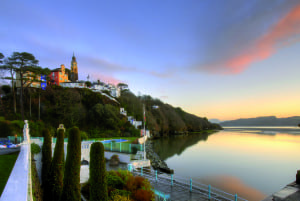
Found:
[(300, 116), (300, 0), (1, 0), (0, 52), (208, 119)]

